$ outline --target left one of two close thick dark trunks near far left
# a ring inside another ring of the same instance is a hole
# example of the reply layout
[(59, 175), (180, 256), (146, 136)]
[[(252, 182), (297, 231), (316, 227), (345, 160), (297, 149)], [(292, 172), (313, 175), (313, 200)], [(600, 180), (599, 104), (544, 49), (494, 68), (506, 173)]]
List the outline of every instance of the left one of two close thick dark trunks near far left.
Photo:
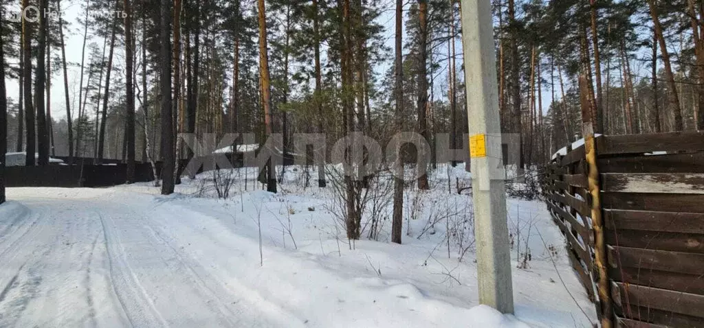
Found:
[[(29, 6), (29, 0), (23, 0), (23, 12), (27, 6)], [(34, 166), (34, 152), (36, 151), (37, 144), (34, 133), (34, 106), (32, 105), (32, 27), (30, 27), (30, 22), (25, 20), (24, 15), (22, 15), (22, 34), (24, 44), (23, 56), (25, 58), (25, 65), (23, 67), (23, 91), (25, 92), (25, 126), (27, 127), (27, 147), (25, 148), (27, 156), (25, 165)]]

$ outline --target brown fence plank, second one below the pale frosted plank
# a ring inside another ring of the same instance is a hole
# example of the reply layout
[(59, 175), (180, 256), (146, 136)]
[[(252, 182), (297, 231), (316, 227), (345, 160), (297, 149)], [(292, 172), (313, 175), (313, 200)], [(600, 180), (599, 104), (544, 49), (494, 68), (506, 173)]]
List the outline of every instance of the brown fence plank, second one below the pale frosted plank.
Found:
[(604, 210), (607, 229), (704, 234), (704, 213)]

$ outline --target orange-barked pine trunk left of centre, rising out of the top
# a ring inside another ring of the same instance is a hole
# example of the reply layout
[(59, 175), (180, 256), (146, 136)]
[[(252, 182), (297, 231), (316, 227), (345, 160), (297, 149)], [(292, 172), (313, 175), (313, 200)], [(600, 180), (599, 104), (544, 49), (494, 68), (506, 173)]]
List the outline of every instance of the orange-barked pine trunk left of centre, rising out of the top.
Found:
[[(264, 103), (264, 126), (267, 136), (271, 136), (271, 79), (269, 75), (269, 51), (267, 48), (266, 31), (266, 8), (264, 0), (257, 0), (258, 20), (259, 20), (259, 76), (262, 87), (262, 97)], [(267, 186), (268, 192), (276, 191), (276, 177), (272, 159), (268, 159), (267, 165)]]

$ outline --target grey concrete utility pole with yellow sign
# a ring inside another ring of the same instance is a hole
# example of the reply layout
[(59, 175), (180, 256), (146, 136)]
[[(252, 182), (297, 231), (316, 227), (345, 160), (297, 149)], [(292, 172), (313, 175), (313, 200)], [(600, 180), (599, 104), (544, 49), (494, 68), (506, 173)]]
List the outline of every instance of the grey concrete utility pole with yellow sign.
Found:
[(513, 313), (490, 0), (462, 0), (479, 303)]

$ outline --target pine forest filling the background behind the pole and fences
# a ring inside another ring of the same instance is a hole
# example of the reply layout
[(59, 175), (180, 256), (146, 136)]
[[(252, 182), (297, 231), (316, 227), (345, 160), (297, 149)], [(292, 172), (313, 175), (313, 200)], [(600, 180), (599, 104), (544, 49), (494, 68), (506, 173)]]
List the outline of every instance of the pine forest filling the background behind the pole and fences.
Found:
[[(69, 4), (80, 6), (78, 22), (61, 18)], [(704, 129), (702, 1), (493, 4), (501, 126), (522, 137), (522, 166), (541, 164), (580, 138), (580, 76), (589, 82), (596, 133)], [(18, 6), (58, 16), (6, 19)], [(0, 1), (0, 81), (20, 87), (18, 95), (0, 95), (13, 99), (0, 140), (10, 151), (29, 150), (27, 165), (46, 165), (54, 154), (123, 159), (127, 182), (138, 160), (162, 160), (162, 176), (174, 176), (175, 158), (189, 156), (178, 133), (251, 132), (260, 143), (282, 133), (287, 151), (293, 133), (336, 140), (362, 131), (383, 141), (416, 131), (429, 143), (450, 133), (451, 148), (461, 148), (467, 110), (460, 6)], [(79, 28), (82, 44), (65, 44), (69, 26)], [(82, 48), (81, 63), (67, 63), (67, 46)], [(69, 65), (80, 69), (77, 85), (68, 81)], [(51, 84), (63, 84), (63, 95), (52, 95)], [(52, 96), (65, 106), (51, 108)], [(63, 118), (52, 118), (56, 112)], [(267, 171), (275, 191), (272, 165)], [(173, 192), (177, 179), (163, 180), (163, 192)], [(318, 182), (324, 186), (325, 178)], [(358, 193), (345, 184), (347, 195)], [(427, 189), (425, 174), (418, 188)]]

